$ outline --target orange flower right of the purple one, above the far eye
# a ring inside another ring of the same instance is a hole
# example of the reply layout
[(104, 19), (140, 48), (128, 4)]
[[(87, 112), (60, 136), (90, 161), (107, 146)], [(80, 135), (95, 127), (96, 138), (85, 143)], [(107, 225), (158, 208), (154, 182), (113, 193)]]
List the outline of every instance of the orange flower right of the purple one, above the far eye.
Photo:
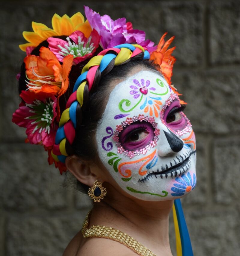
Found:
[[(150, 56), (150, 60), (154, 60), (154, 63), (157, 63), (161, 67), (161, 72), (164, 75), (164, 78), (171, 85), (171, 76), (173, 75), (173, 64), (176, 61), (176, 58), (171, 54), (175, 50), (176, 47), (170, 48), (167, 50), (169, 45), (173, 42), (174, 36), (171, 37), (167, 42), (164, 41), (167, 32), (161, 37), (158, 48), (152, 52)], [(175, 88), (172, 88), (175, 92)]]

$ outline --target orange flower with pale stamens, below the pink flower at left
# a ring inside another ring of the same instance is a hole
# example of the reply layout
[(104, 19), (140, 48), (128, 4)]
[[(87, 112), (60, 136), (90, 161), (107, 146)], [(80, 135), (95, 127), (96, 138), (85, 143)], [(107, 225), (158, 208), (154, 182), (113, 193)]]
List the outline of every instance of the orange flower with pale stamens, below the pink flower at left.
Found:
[(73, 64), (73, 55), (64, 57), (62, 66), (49, 48), (41, 47), (39, 55), (29, 54), (24, 58), (26, 85), (35, 93), (44, 91), (61, 96), (68, 88), (68, 75)]

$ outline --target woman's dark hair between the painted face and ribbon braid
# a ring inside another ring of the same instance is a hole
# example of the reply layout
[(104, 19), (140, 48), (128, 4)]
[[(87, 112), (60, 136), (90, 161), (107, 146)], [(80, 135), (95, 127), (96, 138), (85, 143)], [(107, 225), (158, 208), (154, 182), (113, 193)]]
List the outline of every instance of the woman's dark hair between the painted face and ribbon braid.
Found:
[[(58, 37), (59, 38), (59, 37)], [(61, 36), (61, 39), (65, 39), (65, 36)], [(38, 47), (36, 47), (31, 54), (39, 55), (40, 48), (48, 47), (48, 42), (44, 41)], [(100, 48), (100, 47), (99, 47)], [(101, 49), (96, 51), (96, 54)], [(69, 74), (69, 88), (67, 92), (60, 97), (59, 105), (61, 113), (65, 109), (66, 102), (69, 96), (72, 94), (73, 86), (81, 74), (82, 68), (89, 61), (85, 60), (78, 65), (72, 67)], [(112, 91), (111, 82), (114, 80), (125, 79), (128, 77), (130, 72), (136, 67), (143, 67), (150, 69), (155, 72), (159, 72), (159, 66), (154, 64), (153, 61), (143, 59), (143, 53), (129, 59), (125, 63), (119, 66), (114, 66), (114, 59), (108, 64), (106, 69), (101, 73), (99, 69), (96, 72), (91, 93), (84, 91), (84, 102), (82, 107), (78, 104), (77, 106), (77, 127), (76, 136), (72, 145), (66, 143), (66, 150), (68, 155), (76, 154), (81, 159), (93, 161), (99, 161), (97, 149), (93, 143), (92, 138), (94, 137), (98, 123), (101, 120), (105, 106), (107, 104), (108, 97)], [(25, 64), (21, 66), (21, 76), (19, 79), (19, 93), (22, 90), (26, 90), (26, 69)], [(87, 193), (88, 186), (77, 181), (77, 189)]]

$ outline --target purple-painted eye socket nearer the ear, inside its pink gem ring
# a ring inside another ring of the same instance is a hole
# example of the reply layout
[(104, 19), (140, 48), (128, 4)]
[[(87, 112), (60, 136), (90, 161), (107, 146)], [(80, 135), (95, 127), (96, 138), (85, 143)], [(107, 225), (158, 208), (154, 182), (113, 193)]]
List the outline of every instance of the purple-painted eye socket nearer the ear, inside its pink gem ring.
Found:
[(154, 128), (149, 122), (137, 121), (126, 126), (119, 133), (119, 142), (125, 150), (137, 150), (145, 147), (154, 139)]

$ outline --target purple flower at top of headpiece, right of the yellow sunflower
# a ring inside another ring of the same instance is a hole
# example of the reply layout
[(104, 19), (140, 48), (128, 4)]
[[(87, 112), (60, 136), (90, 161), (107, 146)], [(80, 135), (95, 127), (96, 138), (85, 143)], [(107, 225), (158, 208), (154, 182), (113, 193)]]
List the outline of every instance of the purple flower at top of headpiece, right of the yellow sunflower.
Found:
[(103, 49), (124, 43), (137, 43), (146, 47), (150, 54), (157, 49), (154, 42), (145, 40), (145, 32), (133, 29), (130, 22), (126, 23), (126, 18), (112, 20), (108, 15), (100, 16), (88, 6), (84, 6), (84, 10), (91, 28), (95, 28), (101, 35), (100, 45)]

